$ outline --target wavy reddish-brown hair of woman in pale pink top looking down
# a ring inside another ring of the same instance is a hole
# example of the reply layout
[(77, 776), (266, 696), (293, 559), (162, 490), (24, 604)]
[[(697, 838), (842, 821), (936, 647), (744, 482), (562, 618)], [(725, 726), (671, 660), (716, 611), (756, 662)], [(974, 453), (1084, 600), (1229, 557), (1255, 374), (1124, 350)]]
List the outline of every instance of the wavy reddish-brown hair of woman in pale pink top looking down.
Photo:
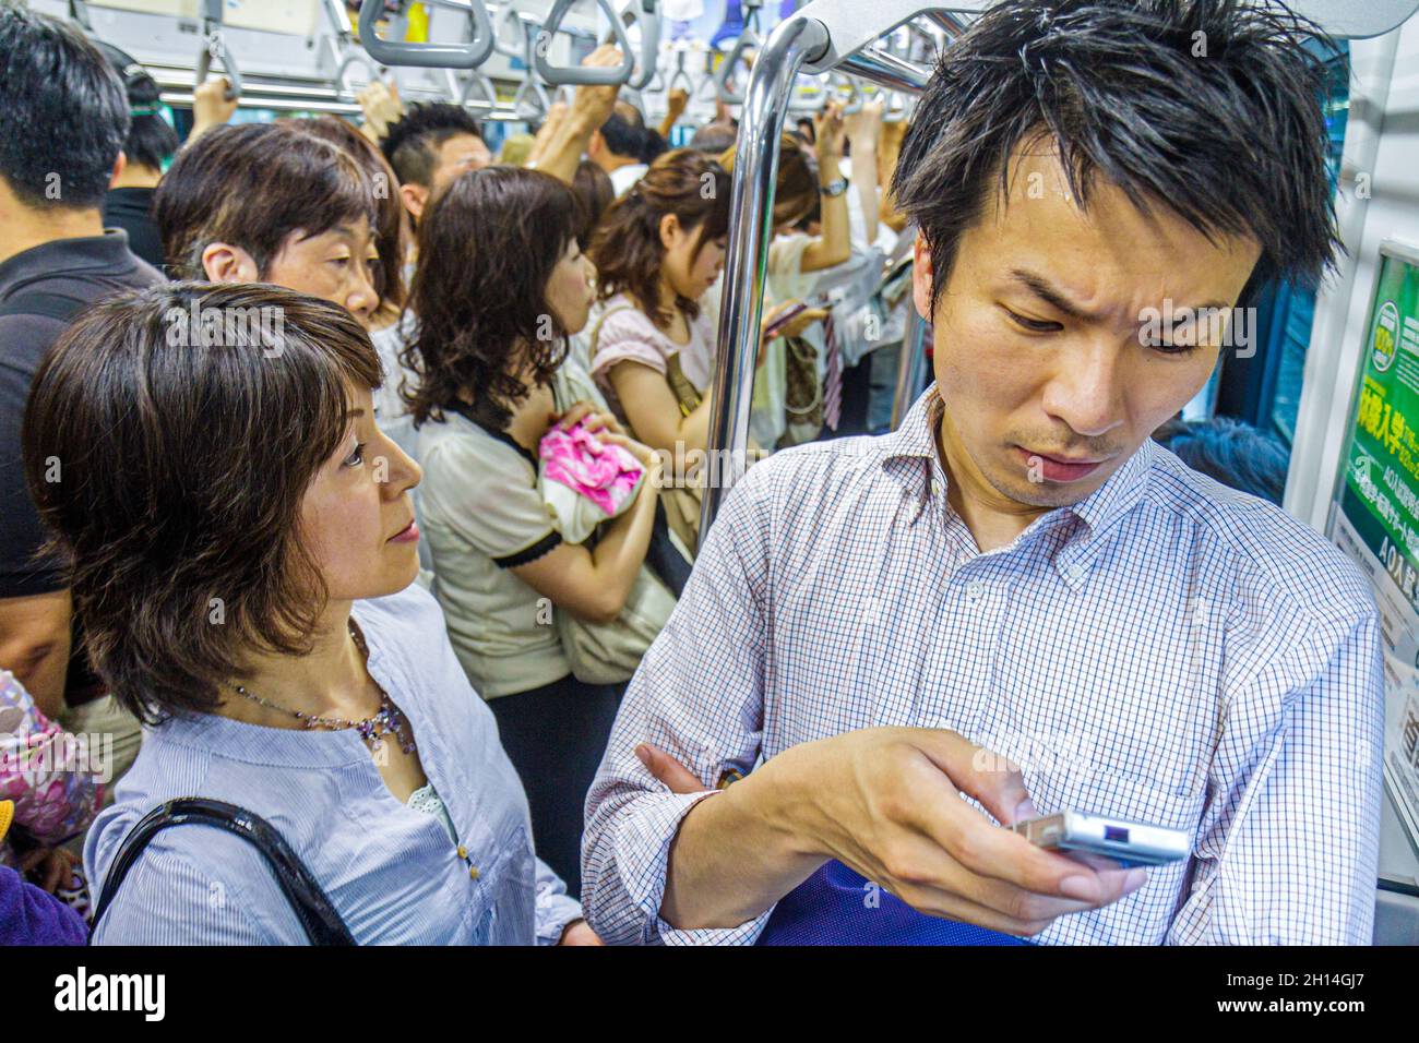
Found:
[[(729, 233), (729, 175), (712, 156), (697, 149), (675, 149), (650, 165), (646, 176), (612, 203), (592, 238), (596, 292), (606, 301), (629, 292), (656, 325), (671, 314), (660, 307), (661, 264), (666, 247), (660, 221), (675, 214), (680, 227), (695, 233), (694, 257), (707, 243)], [(675, 302), (690, 318), (700, 315), (695, 301)]]

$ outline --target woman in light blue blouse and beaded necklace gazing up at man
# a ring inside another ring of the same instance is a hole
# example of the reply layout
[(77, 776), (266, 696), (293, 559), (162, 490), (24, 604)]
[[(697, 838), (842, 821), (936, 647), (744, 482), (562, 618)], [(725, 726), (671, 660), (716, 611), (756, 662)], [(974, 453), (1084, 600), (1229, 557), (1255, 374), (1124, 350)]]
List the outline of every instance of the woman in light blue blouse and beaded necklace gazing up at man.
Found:
[[(31, 494), (95, 666), (149, 725), (89, 880), (152, 809), (199, 796), (274, 826), (356, 942), (595, 944), (413, 583), (420, 471), (375, 426), (379, 383), (346, 311), (260, 284), (101, 305), (40, 369)], [(95, 932), (305, 939), (260, 853), (203, 824), (159, 833)]]

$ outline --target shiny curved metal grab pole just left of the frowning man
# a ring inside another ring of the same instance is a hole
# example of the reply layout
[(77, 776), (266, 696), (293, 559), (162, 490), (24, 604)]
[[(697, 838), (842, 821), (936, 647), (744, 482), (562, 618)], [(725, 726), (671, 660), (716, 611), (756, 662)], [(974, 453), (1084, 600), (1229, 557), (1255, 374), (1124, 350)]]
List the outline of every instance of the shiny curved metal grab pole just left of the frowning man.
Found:
[[(729, 250), (719, 307), (719, 343), (710, 414), (708, 478), (700, 505), (700, 539), (714, 524), (728, 487), (746, 467), (753, 360), (759, 349), (763, 282), (773, 237), (773, 187), (779, 176), (779, 136), (799, 67), (827, 47), (816, 18), (780, 23), (759, 51), (744, 92), (739, 146), (729, 210)], [(718, 461), (718, 463), (717, 463)], [(728, 465), (731, 474), (725, 474)]]

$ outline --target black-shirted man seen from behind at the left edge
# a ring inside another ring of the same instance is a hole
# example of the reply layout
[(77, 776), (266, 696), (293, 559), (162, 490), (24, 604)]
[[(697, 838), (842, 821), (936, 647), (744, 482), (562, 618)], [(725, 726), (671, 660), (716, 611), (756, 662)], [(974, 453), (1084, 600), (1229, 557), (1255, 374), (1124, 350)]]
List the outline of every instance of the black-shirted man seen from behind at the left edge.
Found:
[[(0, 670), (50, 717), (102, 690), (82, 660), (70, 666), (70, 592), (62, 565), (40, 555), (45, 532), (24, 485), (20, 420), (35, 368), (68, 321), (162, 278), (122, 231), (104, 233), (104, 193), (128, 131), (123, 85), (92, 44), (0, 1)], [(62, 481), (64, 461), (53, 464)]]

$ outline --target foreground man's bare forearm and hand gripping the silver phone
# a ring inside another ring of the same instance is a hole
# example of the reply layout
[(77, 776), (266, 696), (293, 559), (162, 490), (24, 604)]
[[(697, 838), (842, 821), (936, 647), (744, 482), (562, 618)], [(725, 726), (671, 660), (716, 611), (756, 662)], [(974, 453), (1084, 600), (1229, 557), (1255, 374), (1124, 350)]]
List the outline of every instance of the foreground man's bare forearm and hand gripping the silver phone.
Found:
[[(1108, 905), (1147, 883), (1141, 868), (1066, 857), (1015, 833), (1013, 824), (1039, 813), (1020, 773), (979, 751), (956, 732), (928, 728), (866, 728), (783, 751), (681, 823), (677, 850), (687, 833), (700, 834), (697, 817), (707, 829), (690, 844), (694, 861), (715, 837), (722, 844), (745, 834), (732, 856), (736, 894), (697, 898), (710, 860), (681, 880), (673, 853), (661, 915), (673, 924), (744, 922), (827, 859), (921, 912), (1013, 935), (1039, 934), (1057, 917)], [(749, 895), (744, 884), (753, 877), (762, 888)]]

